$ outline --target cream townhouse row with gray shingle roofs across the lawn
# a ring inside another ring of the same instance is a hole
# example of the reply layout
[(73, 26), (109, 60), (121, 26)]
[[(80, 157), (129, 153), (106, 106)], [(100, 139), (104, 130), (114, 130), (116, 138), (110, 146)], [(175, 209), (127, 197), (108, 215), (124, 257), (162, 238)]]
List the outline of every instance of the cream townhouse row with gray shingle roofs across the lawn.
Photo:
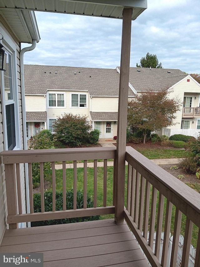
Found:
[[(25, 65), (27, 138), (42, 129), (53, 132), (54, 121), (64, 113), (87, 116), (93, 129), (101, 132), (100, 138), (116, 136), (119, 74), (120, 67)], [(169, 97), (180, 100), (181, 109), (174, 125), (158, 133), (170, 136), (172, 130), (185, 134), (193, 129), (196, 134), (200, 128), (200, 85), (179, 69), (130, 68), (129, 100), (146, 90), (165, 88), (170, 90)]]

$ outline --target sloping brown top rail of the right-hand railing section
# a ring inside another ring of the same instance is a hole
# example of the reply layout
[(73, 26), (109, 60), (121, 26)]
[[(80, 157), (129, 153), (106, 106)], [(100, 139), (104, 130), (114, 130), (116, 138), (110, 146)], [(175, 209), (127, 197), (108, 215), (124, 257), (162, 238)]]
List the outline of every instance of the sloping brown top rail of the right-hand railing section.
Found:
[[(133, 159), (133, 162), (131, 162)], [(180, 211), (200, 227), (200, 194), (173, 175), (155, 165), (148, 158), (128, 146), (126, 160), (143, 175), (155, 188), (169, 199)]]

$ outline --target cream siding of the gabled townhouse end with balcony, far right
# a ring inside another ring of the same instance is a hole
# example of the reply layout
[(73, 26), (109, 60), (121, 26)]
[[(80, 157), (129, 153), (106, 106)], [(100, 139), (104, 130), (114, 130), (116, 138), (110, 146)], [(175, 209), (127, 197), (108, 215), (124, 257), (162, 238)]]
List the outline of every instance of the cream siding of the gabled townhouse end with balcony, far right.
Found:
[[(190, 81), (187, 82), (187, 79)], [(168, 127), (169, 129), (180, 129), (181, 128), (181, 121), (187, 120), (190, 121), (190, 128), (196, 128), (196, 118), (183, 118), (183, 98), (184, 96), (191, 96), (192, 97), (192, 106), (191, 107), (198, 107), (199, 106), (199, 92), (200, 92), (200, 85), (196, 84), (191, 78), (185, 78), (183, 81), (178, 83), (173, 87), (173, 92), (170, 93), (169, 98), (178, 98), (180, 100), (180, 110), (176, 113), (176, 119), (174, 122), (175, 125)], [(194, 99), (196, 97), (196, 100)], [(194, 123), (192, 123), (194, 121)]]

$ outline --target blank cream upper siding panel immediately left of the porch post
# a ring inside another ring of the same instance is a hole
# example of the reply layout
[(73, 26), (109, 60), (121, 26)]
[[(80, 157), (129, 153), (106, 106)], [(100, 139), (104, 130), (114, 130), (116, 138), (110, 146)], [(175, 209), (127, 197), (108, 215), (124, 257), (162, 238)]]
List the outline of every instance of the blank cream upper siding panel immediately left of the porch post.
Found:
[(117, 112), (118, 97), (92, 97), (93, 112)]

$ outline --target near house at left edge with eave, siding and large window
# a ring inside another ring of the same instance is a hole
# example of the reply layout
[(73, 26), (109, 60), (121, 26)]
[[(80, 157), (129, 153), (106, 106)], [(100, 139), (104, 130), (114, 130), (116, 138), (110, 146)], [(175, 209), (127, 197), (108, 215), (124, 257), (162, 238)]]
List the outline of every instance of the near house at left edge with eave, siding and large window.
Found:
[[(23, 97), (22, 59), (20, 58), (21, 42), (32, 43), (39, 41), (35, 15), (32, 11), (18, 13), (14, 10), (8, 12), (3, 9), (0, 14), (1, 43), (6, 54), (6, 71), (0, 70), (1, 82), (1, 112), (0, 112), (0, 152), (3, 150), (26, 149), (25, 129), (25, 103)], [(15, 18), (16, 23), (13, 23)], [(22, 23), (23, 21), (23, 23)], [(10, 26), (12, 25), (12, 26)], [(26, 198), (26, 170), (20, 165), (22, 213), (28, 212)], [(0, 162), (0, 244), (6, 229), (7, 201), (5, 172), (2, 161)], [(26, 223), (19, 223), (24, 227)]]

